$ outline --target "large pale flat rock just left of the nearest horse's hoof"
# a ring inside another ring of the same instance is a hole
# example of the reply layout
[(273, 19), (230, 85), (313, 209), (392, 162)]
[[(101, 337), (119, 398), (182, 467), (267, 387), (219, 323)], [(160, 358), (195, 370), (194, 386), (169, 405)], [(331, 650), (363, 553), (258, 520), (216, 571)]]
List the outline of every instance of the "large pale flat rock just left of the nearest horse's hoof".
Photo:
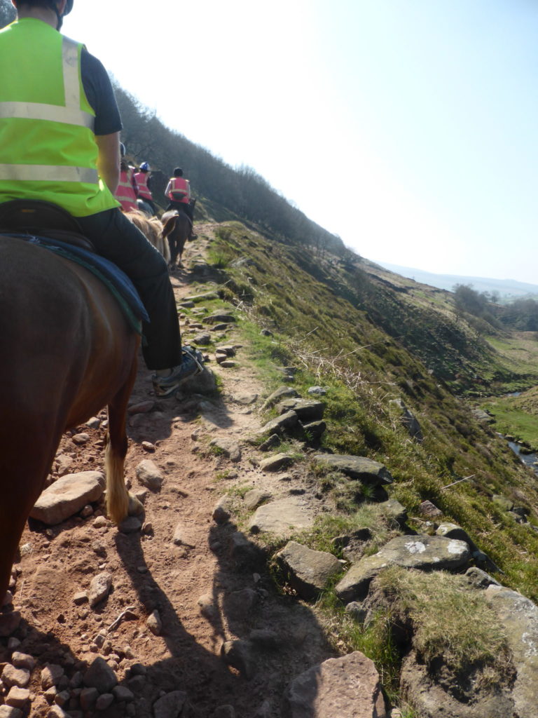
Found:
[(97, 501), (105, 490), (105, 477), (100, 471), (67, 474), (44, 490), (30, 511), (32, 518), (55, 526), (86, 504)]

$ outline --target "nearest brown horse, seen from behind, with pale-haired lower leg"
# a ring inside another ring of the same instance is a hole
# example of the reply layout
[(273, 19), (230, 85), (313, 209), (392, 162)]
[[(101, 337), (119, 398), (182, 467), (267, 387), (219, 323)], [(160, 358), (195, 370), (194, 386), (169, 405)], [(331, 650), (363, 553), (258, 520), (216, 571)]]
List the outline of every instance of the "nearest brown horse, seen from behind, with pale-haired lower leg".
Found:
[[(128, 513), (126, 407), (139, 337), (86, 269), (0, 236), (0, 605), (62, 433), (108, 405), (107, 510)], [(136, 501), (136, 500), (135, 500)]]

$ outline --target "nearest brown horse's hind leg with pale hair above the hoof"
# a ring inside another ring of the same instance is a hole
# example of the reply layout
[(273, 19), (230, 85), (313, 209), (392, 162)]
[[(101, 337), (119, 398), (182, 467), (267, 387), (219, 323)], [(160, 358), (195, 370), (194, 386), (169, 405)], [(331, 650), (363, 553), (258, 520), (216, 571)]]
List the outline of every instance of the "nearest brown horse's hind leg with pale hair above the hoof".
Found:
[(120, 391), (108, 404), (108, 442), (105, 451), (106, 508), (114, 523), (121, 523), (129, 512), (129, 497), (123, 477), (127, 454), (127, 403), (136, 378), (136, 358), (131, 373)]

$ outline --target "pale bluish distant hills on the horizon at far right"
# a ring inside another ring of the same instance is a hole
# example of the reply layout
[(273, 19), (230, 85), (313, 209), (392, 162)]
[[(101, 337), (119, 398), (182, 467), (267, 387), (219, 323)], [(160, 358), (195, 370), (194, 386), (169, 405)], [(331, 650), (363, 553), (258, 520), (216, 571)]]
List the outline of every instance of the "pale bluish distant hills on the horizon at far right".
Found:
[(377, 264), (408, 279), (414, 279), (421, 284), (436, 286), (452, 292), (456, 284), (472, 284), (476, 292), (498, 292), (500, 299), (519, 299), (520, 297), (538, 297), (538, 284), (527, 284), (516, 279), (488, 279), (482, 276), (458, 276), (457, 274), (433, 274), (433, 272), (412, 267), (402, 267), (398, 264), (376, 261)]

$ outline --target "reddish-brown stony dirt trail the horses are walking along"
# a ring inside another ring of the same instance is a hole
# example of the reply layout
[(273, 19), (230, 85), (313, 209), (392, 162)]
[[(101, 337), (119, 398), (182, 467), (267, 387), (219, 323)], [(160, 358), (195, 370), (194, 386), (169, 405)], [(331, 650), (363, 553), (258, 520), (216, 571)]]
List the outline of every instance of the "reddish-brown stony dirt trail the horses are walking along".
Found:
[[(187, 246), (184, 262), (192, 269), (174, 274), (178, 301), (202, 291), (192, 282), (209, 276), (204, 247), (212, 229), (212, 225), (198, 225), (199, 240)], [(188, 324), (181, 325), (187, 343), (193, 332)], [(236, 332), (223, 332), (220, 343), (239, 343)], [(278, 717), (290, 679), (332, 655), (311, 609), (277, 595), (263, 564), (254, 570), (238, 569), (230, 554), (237, 527), (212, 520), (214, 504), (232, 485), (260, 488), (268, 479), (250, 461), (263, 454), (247, 444), (242, 444), (240, 462), (208, 450), (209, 439), (240, 440), (259, 426), (256, 406), (265, 388), (241, 348), (237, 367), (221, 368), (211, 355), (209, 368), (221, 378), (220, 398), (159, 400), (152, 411), (130, 419), (128, 482), (133, 490), (141, 489), (135, 473), (141, 460), (151, 459), (164, 474), (161, 491), (147, 492), (142, 532), (118, 532), (95, 505), (84, 518), (75, 516), (52, 528), (31, 522), (25, 529), (14, 590), (14, 606), (22, 612), (23, 621), (15, 635), (22, 641), (18, 650), (37, 660), (30, 686), (32, 716), (45, 717), (49, 711), (39, 679), (45, 663), (59, 663), (71, 678), (102, 655), (136, 699), (123, 704), (116, 701), (100, 712), (82, 712), (77, 705), (80, 690), (78, 694), (71, 690), (64, 709), (74, 711), (73, 716), (149, 717), (159, 696), (185, 691), (187, 707), (177, 715)], [(131, 404), (151, 399), (149, 373), (141, 365)], [(105, 414), (100, 418), (105, 420)], [(103, 470), (103, 424), (78, 429), (89, 434), (90, 441), (80, 447), (66, 435), (55, 475), (67, 469)], [(151, 442), (154, 451), (145, 449), (142, 442)], [(178, 526), (179, 546), (172, 541)], [(93, 609), (88, 602), (77, 605), (75, 594), (87, 590), (100, 572), (113, 576), (108, 598)], [(209, 604), (204, 610), (207, 617), (199, 606), (202, 596)], [(105, 631), (104, 643), (100, 639), (95, 643), (98, 633), (128, 607), (136, 617)], [(154, 610), (162, 620), (161, 635), (154, 635), (146, 625)], [(253, 631), (258, 631), (254, 652), (235, 661), (242, 671), (227, 666), (220, 656), (222, 643), (251, 638)], [(1, 661), (11, 656), (6, 645), (6, 640), (0, 643), (0, 671)], [(234, 711), (217, 710), (225, 705)]]

